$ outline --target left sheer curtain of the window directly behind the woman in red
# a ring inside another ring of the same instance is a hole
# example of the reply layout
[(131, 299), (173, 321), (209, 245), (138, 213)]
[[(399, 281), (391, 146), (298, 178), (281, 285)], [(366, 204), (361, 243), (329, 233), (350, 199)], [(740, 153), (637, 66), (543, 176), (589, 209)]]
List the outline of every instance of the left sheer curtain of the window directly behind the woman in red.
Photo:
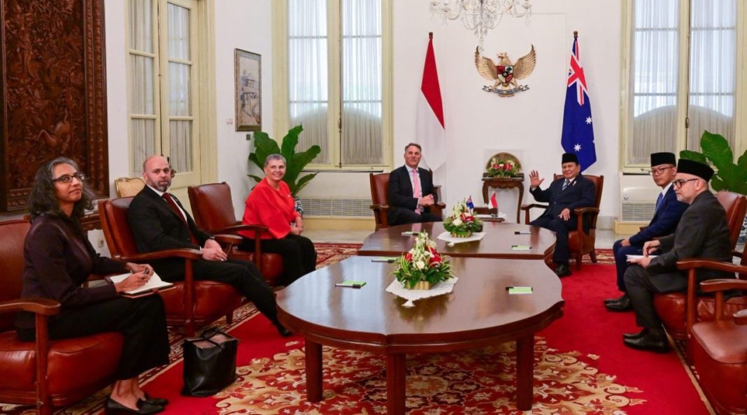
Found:
[(300, 151), (321, 147), (317, 163), (329, 162), (328, 79), (326, 0), (288, 0), (288, 117), (303, 123)]

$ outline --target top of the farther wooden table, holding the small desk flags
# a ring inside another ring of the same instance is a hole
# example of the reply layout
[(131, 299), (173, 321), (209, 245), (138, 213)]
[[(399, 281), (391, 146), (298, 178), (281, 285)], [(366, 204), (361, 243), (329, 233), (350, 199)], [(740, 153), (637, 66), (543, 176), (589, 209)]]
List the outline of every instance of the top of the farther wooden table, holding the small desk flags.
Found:
[[(445, 231), (443, 222), (416, 223), (382, 228), (366, 237), (358, 255), (402, 255), (415, 245), (415, 236), (403, 231), (427, 231), (436, 241), (436, 249), (444, 255), (473, 258), (544, 259), (555, 244), (555, 234), (545, 228), (506, 222), (483, 222), (485, 237), (474, 242), (455, 243), (448, 246), (437, 237)], [(515, 234), (530, 232), (530, 234)], [(527, 251), (514, 251), (512, 245), (528, 245)]]

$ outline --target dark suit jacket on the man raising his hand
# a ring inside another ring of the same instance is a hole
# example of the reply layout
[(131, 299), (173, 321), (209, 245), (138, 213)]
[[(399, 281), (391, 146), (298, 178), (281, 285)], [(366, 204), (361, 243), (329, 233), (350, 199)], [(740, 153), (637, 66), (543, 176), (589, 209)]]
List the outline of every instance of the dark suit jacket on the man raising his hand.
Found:
[(553, 181), (546, 190), (536, 187), (530, 190), (532, 196), (537, 202), (549, 203), (548, 208), (542, 212), (542, 216), (558, 216), (560, 212), (568, 207), (573, 213), (576, 207), (593, 207), (596, 202), (596, 191), (594, 184), (588, 178), (577, 175), (574, 181), (562, 189), (565, 178), (559, 178)]

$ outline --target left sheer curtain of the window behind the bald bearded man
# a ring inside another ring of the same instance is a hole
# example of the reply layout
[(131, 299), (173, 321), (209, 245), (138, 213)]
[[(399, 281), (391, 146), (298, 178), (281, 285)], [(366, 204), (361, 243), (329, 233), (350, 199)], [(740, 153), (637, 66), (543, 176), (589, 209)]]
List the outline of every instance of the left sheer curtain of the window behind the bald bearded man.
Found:
[(139, 175), (143, 172), (145, 158), (155, 152), (152, 3), (150, 0), (130, 0), (129, 13), (132, 171)]

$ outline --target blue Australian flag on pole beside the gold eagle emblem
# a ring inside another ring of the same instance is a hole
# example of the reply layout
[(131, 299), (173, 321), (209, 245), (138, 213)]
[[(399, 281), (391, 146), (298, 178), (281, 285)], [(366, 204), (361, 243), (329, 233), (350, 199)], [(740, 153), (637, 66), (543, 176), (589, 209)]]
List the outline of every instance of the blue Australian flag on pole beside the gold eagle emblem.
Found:
[(571, 66), (568, 69), (568, 90), (565, 91), (565, 111), (562, 116), (560, 143), (565, 152), (577, 155), (582, 172), (597, 160), (592, 105), (586, 90), (586, 75), (583, 73), (579, 60), (578, 35), (575, 33)]

